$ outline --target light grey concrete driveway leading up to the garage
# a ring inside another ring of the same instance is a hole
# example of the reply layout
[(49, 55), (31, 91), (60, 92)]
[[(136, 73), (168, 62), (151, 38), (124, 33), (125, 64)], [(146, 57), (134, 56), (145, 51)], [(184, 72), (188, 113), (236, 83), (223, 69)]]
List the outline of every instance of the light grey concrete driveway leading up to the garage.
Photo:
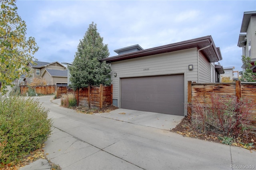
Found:
[[(50, 108), (49, 117), (54, 121), (45, 153), (62, 170), (216, 170), (256, 167), (254, 151), (170, 132), (172, 127), (166, 122), (170, 121), (171, 124), (174, 118), (165, 117), (168, 115), (138, 114), (139, 111), (126, 109), (86, 115), (51, 103), (50, 97), (38, 99), (46, 108)], [(179, 119), (175, 119), (175, 123)], [(154, 123), (149, 125), (150, 121)], [(36, 168), (28, 165), (26, 169)]]

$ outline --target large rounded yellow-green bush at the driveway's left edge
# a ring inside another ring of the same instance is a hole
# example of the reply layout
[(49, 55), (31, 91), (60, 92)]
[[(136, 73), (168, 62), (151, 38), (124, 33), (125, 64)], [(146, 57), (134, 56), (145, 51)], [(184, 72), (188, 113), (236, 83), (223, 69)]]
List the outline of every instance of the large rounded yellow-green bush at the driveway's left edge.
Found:
[(0, 97), (0, 166), (41, 148), (51, 133), (48, 110), (32, 98)]

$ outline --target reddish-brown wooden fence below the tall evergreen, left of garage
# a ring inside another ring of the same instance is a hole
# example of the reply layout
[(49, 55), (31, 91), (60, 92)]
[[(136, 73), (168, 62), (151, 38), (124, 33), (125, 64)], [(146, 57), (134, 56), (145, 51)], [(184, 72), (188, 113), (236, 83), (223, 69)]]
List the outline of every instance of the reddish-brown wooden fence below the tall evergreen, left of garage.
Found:
[(102, 109), (112, 105), (112, 85), (88, 86), (76, 91), (68, 87), (57, 87), (57, 99), (63, 93), (74, 93), (78, 106)]

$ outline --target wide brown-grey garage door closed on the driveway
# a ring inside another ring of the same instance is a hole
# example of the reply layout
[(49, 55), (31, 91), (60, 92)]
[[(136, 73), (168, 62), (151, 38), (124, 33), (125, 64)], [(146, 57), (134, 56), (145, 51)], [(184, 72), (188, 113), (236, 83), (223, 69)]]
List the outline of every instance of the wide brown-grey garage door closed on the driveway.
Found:
[(184, 115), (184, 75), (121, 79), (121, 108)]

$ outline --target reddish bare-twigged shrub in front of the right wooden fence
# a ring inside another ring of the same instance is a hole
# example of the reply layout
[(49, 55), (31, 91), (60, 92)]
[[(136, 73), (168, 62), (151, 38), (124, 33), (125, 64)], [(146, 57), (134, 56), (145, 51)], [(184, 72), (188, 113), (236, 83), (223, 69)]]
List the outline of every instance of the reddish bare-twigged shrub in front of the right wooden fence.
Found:
[(207, 134), (218, 132), (225, 136), (238, 136), (246, 130), (250, 109), (255, 106), (248, 99), (237, 100), (232, 96), (210, 94), (210, 99), (196, 99), (192, 102), (192, 128)]

